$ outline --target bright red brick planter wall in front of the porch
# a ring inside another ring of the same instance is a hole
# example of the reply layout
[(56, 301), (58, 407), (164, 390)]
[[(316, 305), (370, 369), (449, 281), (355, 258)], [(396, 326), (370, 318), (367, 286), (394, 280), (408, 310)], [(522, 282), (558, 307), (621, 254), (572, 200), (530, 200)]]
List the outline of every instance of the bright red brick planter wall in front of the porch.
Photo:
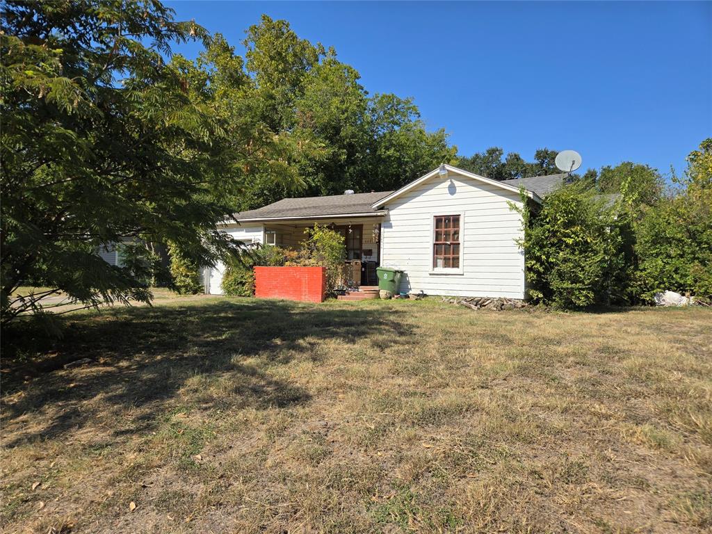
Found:
[(323, 302), (325, 267), (255, 267), (255, 296)]

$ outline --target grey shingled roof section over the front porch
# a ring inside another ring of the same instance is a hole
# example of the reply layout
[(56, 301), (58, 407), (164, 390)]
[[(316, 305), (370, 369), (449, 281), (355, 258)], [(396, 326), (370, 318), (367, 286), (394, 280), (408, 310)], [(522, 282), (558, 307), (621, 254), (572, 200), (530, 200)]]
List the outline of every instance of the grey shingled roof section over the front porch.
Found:
[(373, 216), (384, 212), (372, 204), (391, 194), (391, 191), (376, 193), (335, 194), (329, 197), (306, 197), (282, 199), (268, 206), (233, 215), (237, 221), (263, 221), (280, 219), (328, 218), (330, 216)]

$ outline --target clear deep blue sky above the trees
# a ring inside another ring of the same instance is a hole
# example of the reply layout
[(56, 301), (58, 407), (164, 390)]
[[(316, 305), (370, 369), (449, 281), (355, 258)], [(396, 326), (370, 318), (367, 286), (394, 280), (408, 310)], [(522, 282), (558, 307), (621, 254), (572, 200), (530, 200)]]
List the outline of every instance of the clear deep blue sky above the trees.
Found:
[[(668, 172), (712, 136), (711, 2), (167, 1), (236, 46), (262, 13), (412, 96), (461, 155), (578, 150)], [(179, 46), (194, 57), (199, 46)]]

